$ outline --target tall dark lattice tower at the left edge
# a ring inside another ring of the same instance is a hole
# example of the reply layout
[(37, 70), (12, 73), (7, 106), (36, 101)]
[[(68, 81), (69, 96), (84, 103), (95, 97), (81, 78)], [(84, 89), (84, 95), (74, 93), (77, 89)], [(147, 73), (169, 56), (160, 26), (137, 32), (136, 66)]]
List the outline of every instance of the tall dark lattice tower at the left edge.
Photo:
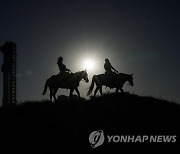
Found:
[(3, 72), (2, 106), (16, 103), (16, 44), (5, 42), (0, 50), (4, 56), (1, 72)]

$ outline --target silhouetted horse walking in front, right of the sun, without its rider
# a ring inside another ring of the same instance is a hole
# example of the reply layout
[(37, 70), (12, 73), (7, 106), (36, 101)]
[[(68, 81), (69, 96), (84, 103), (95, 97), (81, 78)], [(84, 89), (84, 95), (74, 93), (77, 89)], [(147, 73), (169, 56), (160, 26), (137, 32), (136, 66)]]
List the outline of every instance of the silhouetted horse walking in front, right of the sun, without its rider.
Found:
[(94, 75), (92, 78), (91, 86), (87, 92), (87, 96), (92, 93), (94, 89), (94, 83), (96, 84), (94, 96), (96, 96), (98, 90), (102, 95), (102, 86), (116, 88), (116, 92), (118, 92), (118, 90), (124, 92), (122, 88), (126, 81), (128, 81), (129, 84), (133, 86), (134, 85), (133, 74), (130, 75), (130, 74), (119, 73), (119, 74), (111, 74), (111, 75), (106, 75), (106, 74)]

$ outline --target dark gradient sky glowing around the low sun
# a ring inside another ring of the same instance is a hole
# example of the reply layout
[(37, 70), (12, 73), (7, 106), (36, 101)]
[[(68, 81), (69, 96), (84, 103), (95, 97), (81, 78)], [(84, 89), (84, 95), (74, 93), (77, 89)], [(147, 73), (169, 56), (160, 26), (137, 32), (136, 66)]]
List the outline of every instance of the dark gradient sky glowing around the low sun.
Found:
[[(179, 19), (178, 0), (1, 0), (0, 46), (17, 44), (20, 102), (49, 98), (41, 93), (46, 79), (58, 74), (62, 56), (72, 72), (84, 69), (84, 59), (94, 59), (90, 81), (104, 73), (108, 58), (119, 72), (134, 74), (134, 87), (125, 85), (125, 91), (180, 103)], [(1, 72), (0, 100), (2, 83)], [(81, 81), (81, 96), (89, 86)]]

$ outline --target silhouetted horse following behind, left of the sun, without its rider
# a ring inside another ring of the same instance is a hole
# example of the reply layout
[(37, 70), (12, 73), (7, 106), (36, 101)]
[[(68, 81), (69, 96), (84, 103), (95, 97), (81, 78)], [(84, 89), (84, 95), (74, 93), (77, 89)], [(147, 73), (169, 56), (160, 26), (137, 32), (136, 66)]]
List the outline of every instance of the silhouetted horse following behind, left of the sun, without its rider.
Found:
[(86, 83), (89, 82), (88, 74), (85, 71), (79, 71), (76, 73), (70, 73), (60, 76), (60, 74), (53, 75), (49, 79), (46, 80), (44, 90), (42, 95), (45, 95), (47, 88), (49, 88), (50, 91), (50, 101), (52, 101), (52, 97), (54, 97), (54, 100), (56, 99), (56, 93), (59, 88), (61, 89), (70, 89), (69, 98), (71, 98), (73, 91), (75, 90), (78, 94), (78, 97), (80, 98), (80, 92), (78, 90), (79, 82), (84, 79)]

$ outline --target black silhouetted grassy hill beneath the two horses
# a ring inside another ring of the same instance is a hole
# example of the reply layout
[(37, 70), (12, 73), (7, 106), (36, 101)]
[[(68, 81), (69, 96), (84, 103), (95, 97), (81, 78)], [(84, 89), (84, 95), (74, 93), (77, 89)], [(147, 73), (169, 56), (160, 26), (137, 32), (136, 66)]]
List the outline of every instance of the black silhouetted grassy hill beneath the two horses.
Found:
[[(178, 135), (180, 106), (153, 97), (108, 94), (90, 100), (25, 102), (0, 109), (3, 151), (60, 153), (62, 149), (92, 152), (88, 138), (95, 130), (121, 135)], [(159, 144), (158, 146), (177, 146)], [(102, 146), (100, 152), (116, 149), (128, 153), (146, 144)], [(156, 144), (153, 146), (157, 146)], [(129, 148), (130, 147), (130, 148)], [(163, 147), (164, 149), (164, 147)]]

